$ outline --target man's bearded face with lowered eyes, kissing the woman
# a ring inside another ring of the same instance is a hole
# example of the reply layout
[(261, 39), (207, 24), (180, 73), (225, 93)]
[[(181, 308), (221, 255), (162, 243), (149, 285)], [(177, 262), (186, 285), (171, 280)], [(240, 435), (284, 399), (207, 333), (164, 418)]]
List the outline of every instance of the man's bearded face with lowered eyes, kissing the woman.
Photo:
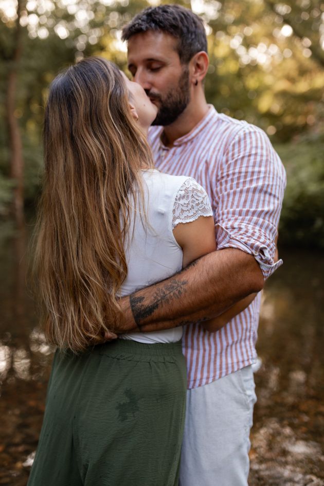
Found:
[(181, 64), (176, 46), (172, 35), (151, 30), (128, 41), (128, 67), (133, 79), (158, 107), (153, 125), (170, 125), (190, 101), (189, 69)]

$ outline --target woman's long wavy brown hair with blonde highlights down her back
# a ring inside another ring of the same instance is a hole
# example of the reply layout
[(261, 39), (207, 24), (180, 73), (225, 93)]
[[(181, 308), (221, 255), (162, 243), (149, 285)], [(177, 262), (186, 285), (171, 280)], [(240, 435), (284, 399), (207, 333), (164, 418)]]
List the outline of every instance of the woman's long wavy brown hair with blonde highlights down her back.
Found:
[(139, 169), (153, 166), (114, 64), (88, 58), (52, 82), (44, 150), (33, 271), (48, 341), (78, 352), (118, 315)]

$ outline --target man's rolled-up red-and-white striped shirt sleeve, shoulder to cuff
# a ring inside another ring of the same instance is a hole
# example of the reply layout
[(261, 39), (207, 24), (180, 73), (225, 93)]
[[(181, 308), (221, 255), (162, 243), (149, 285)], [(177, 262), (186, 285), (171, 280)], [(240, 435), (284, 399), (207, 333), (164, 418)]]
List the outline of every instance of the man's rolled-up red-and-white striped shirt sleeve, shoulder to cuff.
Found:
[(215, 188), (217, 247), (254, 255), (266, 279), (274, 262), (286, 175), (267, 135), (253, 125), (229, 143)]

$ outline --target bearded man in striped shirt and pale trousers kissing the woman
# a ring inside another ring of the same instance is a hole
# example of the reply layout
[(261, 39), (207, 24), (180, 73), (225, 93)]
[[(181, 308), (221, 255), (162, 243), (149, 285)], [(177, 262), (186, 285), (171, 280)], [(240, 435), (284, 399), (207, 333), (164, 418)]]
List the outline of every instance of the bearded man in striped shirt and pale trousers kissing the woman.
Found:
[(260, 294), (215, 333), (198, 321), (259, 292), (275, 263), (285, 173), (263, 131), (218, 114), (204, 95), (202, 20), (163, 5), (123, 29), (133, 79), (158, 106), (150, 142), (156, 167), (193, 176), (212, 202), (218, 249), (171, 279), (122, 300), (117, 332), (185, 325), (188, 397), (181, 486), (246, 486), (255, 403), (251, 364)]

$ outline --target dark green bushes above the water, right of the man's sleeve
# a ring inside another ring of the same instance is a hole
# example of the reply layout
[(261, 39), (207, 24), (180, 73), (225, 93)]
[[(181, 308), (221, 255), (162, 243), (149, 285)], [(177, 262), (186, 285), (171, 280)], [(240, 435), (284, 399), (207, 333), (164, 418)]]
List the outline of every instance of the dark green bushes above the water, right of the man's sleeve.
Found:
[(280, 244), (324, 248), (324, 140), (307, 137), (277, 145), (287, 172)]

